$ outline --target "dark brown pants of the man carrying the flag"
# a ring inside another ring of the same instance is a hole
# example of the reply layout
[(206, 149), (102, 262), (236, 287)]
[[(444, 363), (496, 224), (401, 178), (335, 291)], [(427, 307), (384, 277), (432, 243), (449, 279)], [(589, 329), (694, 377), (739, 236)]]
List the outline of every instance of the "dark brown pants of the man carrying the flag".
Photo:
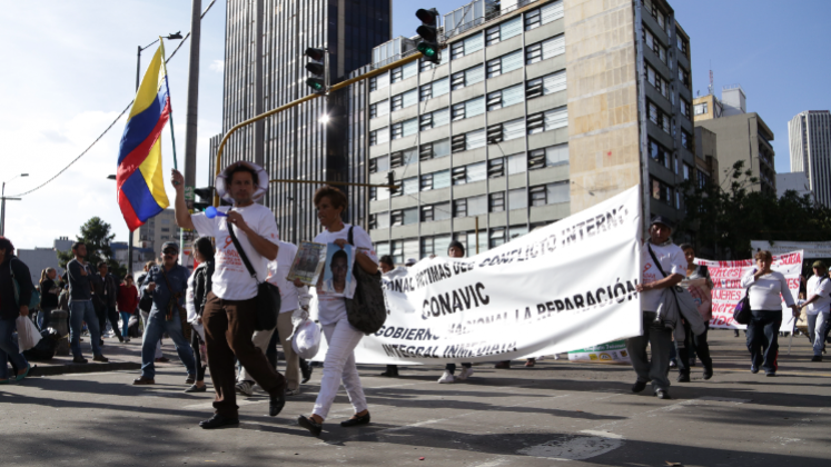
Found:
[(286, 387), (286, 378), (268, 362), (263, 351), (254, 346), (254, 324), (257, 319), (257, 298), (222, 300), (214, 292), (202, 311), (208, 368), (216, 390), (214, 408), (218, 415), (238, 418), (235, 387), (235, 357), (255, 381), (269, 395)]

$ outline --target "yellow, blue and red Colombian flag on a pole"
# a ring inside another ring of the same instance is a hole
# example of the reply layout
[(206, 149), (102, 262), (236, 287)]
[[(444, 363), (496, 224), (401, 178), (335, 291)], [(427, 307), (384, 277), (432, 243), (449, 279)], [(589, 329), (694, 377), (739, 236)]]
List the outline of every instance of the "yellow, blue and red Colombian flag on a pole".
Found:
[(118, 151), (118, 205), (130, 231), (170, 205), (161, 172), (161, 130), (169, 118), (165, 46), (160, 43), (132, 102)]

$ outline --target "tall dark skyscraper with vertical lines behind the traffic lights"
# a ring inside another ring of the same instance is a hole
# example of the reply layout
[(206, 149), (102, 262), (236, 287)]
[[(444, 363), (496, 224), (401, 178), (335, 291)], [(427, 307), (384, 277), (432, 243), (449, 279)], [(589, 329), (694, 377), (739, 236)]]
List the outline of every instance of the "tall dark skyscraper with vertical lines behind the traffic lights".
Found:
[[(259, 8), (258, 8), (259, 7)], [(338, 82), (369, 63), (375, 46), (389, 40), (392, 0), (229, 0), (226, 18), (222, 133), (243, 120), (306, 97), (307, 48), (329, 50), (329, 79)], [(261, 41), (258, 41), (261, 30)], [(261, 53), (257, 53), (261, 50)], [(343, 115), (332, 99), (315, 99), (268, 118), (260, 127), (237, 131), (226, 146), (221, 167), (236, 160), (261, 163), (271, 179), (362, 179), (364, 159), (347, 159)], [(210, 182), (221, 136), (211, 138)], [(313, 206), (317, 185), (271, 183), (264, 200), (288, 241), (310, 240), (320, 227)], [(349, 190), (347, 218), (365, 225), (366, 191)]]

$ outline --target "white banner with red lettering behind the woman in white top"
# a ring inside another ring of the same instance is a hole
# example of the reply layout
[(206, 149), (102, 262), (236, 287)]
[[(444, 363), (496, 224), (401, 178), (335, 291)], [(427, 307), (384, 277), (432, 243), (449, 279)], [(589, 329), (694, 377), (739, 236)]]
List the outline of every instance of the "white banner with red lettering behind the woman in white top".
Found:
[[(738, 261), (712, 261), (695, 258), (696, 265), (704, 265), (713, 279), (713, 319), (710, 320), (711, 328), (745, 329), (745, 325), (733, 321), (733, 310), (736, 304), (744, 297), (741, 285), (742, 277), (755, 269), (753, 259)], [(802, 251), (790, 251), (784, 255), (773, 255), (771, 269), (782, 272), (788, 279), (788, 288), (791, 290), (794, 301), (799, 297), (799, 276), (802, 272)], [(782, 301), (783, 319), (780, 330), (790, 331), (793, 321), (789, 322), (791, 310)]]

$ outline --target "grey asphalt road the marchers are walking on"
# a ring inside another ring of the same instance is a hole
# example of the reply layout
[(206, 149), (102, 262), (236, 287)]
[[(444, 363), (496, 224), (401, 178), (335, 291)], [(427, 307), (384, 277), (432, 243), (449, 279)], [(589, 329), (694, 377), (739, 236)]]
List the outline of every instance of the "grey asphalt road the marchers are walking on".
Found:
[[(711, 331), (715, 376), (674, 384), (673, 399), (630, 393), (629, 367), (547, 358), (534, 368), (475, 366), (466, 382), (438, 385), (441, 366), (402, 377), (360, 367), (373, 423), (342, 428), (342, 393), (320, 438), (308, 414), (320, 369), (266, 415), (263, 393), (243, 399), (238, 428), (202, 430), (212, 391), (182, 394), (184, 369), (165, 365), (155, 387), (135, 371), (70, 374), (0, 386), (9, 466), (828, 466), (831, 359), (810, 362), (804, 337), (780, 357), (776, 378), (751, 375), (744, 339)], [(780, 339), (781, 354), (788, 339)], [(169, 349), (168, 349), (169, 350)], [(175, 358), (175, 354), (170, 352)], [(674, 381), (674, 377), (673, 377)], [(419, 460), (424, 458), (424, 460)], [(677, 463), (677, 464), (672, 464)]]

